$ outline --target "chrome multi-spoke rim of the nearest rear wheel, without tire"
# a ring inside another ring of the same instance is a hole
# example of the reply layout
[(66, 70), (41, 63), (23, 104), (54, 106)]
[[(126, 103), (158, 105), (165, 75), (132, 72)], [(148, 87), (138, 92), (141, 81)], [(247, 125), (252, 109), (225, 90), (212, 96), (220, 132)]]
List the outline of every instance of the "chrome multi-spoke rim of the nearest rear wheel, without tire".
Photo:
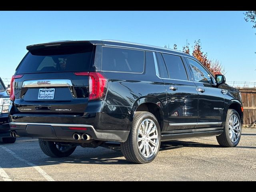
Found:
[(144, 120), (138, 129), (138, 149), (146, 158), (153, 156), (158, 148), (158, 131), (156, 124), (151, 119)]

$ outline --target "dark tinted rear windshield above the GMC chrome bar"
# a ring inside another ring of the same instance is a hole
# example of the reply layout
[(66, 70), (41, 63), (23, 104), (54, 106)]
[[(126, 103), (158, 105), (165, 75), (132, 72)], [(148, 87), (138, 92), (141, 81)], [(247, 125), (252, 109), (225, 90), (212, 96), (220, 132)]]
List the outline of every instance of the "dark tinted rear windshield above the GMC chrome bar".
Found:
[(93, 45), (46, 48), (29, 52), (17, 74), (88, 71)]

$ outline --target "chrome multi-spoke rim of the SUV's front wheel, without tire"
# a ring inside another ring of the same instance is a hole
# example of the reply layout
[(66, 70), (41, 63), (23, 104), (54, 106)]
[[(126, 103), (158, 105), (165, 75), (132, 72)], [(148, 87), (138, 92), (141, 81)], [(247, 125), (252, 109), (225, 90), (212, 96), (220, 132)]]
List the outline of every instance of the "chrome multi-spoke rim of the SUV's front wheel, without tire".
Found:
[(235, 143), (240, 138), (241, 124), (238, 120), (238, 116), (233, 114), (228, 121), (228, 131), (230, 140)]

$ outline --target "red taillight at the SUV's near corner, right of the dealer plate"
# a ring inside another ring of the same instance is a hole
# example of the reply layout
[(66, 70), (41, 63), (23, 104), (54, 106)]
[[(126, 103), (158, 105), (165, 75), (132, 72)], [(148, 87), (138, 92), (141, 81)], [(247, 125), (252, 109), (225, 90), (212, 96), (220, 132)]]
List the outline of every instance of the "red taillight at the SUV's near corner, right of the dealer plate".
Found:
[(77, 76), (89, 76), (89, 100), (104, 99), (107, 91), (107, 79), (100, 72), (77, 72)]

